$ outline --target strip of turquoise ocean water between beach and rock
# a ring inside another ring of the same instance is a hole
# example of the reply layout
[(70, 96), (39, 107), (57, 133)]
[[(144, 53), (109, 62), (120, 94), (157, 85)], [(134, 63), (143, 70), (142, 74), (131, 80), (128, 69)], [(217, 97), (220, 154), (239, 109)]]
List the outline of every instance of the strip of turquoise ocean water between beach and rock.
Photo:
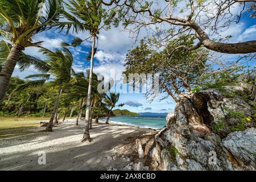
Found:
[(130, 126), (150, 127), (152, 129), (162, 129), (166, 125), (165, 116), (117, 116), (109, 119), (112, 123)]

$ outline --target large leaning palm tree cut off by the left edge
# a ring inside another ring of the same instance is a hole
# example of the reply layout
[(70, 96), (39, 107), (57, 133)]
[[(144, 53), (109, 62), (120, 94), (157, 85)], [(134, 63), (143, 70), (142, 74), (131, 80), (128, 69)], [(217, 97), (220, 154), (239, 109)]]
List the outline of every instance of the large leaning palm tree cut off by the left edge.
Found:
[(32, 39), (59, 21), (61, 0), (0, 0), (0, 36), (12, 46), (0, 73), (0, 104), (19, 56), (26, 47), (40, 47)]

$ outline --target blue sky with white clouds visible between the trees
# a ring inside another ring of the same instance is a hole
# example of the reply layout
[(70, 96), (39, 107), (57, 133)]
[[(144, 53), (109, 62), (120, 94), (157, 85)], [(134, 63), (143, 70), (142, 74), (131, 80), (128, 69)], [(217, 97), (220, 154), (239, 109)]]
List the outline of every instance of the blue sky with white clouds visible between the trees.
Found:
[[(63, 41), (71, 42), (74, 36), (79, 36), (84, 39), (88, 37), (88, 32), (76, 34), (68, 34), (64, 32), (58, 32), (49, 30), (40, 33), (35, 36), (34, 42), (43, 41), (43, 46), (48, 49), (60, 48), (59, 44)], [(247, 40), (254, 40), (256, 38), (256, 19), (249, 18), (246, 13), (240, 20), (240, 23), (233, 24), (225, 32), (221, 32), (221, 36), (225, 37), (232, 35), (233, 37), (229, 42), (242, 42)], [(141, 31), (139, 38), (146, 36), (146, 31)], [(129, 32), (122, 31), (122, 28), (112, 28), (109, 31), (102, 31), (99, 35), (98, 51), (94, 59), (94, 72), (105, 75), (110, 74), (110, 70), (114, 69), (116, 73), (122, 73), (125, 69), (123, 64), (125, 63), (125, 55), (129, 49), (133, 49), (138, 43), (134, 44), (134, 39), (131, 39)], [(90, 40), (84, 42), (77, 48), (71, 48), (74, 57), (73, 68), (75, 71), (85, 71), (89, 68), (89, 61), (85, 60), (87, 53), (90, 50)], [(26, 48), (25, 52), (28, 55), (38, 56), (44, 58), (34, 47)], [(224, 60), (236, 59), (239, 55), (225, 55), (221, 54)], [(15, 68), (14, 75), (20, 78), (24, 78), (27, 75), (38, 73), (34, 68), (28, 68), (24, 72), (19, 72), (18, 68)], [(134, 112), (157, 112), (166, 113), (173, 111), (175, 108), (175, 102), (171, 97), (159, 102), (164, 94), (160, 94), (155, 100), (149, 103), (144, 94), (121, 94), (119, 103), (125, 103), (122, 109), (128, 109)]]

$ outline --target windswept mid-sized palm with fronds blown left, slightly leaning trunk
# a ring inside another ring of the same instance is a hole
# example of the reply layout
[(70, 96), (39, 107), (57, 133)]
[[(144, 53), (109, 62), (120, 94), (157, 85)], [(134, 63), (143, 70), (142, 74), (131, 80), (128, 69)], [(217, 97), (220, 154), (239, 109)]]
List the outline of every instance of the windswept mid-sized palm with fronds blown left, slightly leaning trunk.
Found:
[[(48, 60), (43, 61), (45, 63), (44, 73), (27, 76), (26, 78), (39, 78), (39, 80), (28, 81), (27, 83), (20, 85), (16, 90), (42, 86), (47, 80), (51, 80), (51, 76), (54, 77), (51, 84), (59, 91), (56, 96), (55, 106), (53, 107), (51, 118), (46, 127), (46, 131), (52, 131), (53, 119), (55, 118), (57, 110), (59, 109), (61, 93), (63, 92), (65, 86), (69, 84), (69, 81), (71, 81), (71, 75), (74, 72), (72, 69), (73, 56), (67, 48), (56, 50), (54, 52), (49, 51), (46, 48), (42, 48), (40, 51), (43, 53), (43, 55), (48, 57)], [(26, 66), (28, 67), (29, 64)]]

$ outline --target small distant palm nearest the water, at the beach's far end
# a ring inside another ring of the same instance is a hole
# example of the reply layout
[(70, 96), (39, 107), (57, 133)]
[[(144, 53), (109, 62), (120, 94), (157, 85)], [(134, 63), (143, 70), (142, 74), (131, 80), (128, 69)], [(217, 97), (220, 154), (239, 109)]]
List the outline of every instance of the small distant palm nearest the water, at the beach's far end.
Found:
[(118, 100), (119, 100), (119, 96), (120, 96), (119, 93), (115, 94), (113, 92), (110, 93), (109, 96), (106, 94), (106, 98), (105, 98), (104, 102), (106, 103), (106, 106), (110, 108), (109, 109), (109, 113), (108, 113), (108, 117), (106, 119), (106, 124), (109, 124), (109, 118), (110, 118), (110, 115), (112, 113), (112, 109), (114, 107), (122, 107), (122, 106), (124, 106), (124, 104), (116, 105)]

